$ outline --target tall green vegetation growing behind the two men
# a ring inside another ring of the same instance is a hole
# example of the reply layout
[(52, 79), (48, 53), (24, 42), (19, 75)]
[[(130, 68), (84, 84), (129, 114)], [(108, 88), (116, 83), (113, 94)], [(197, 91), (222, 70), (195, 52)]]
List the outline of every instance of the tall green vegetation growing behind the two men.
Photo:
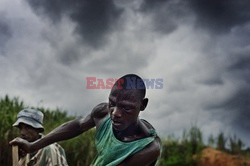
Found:
[[(16, 121), (17, 113), (25, 107), (28, 106), (18, 98), (10, 99), (5, 96), (0, 99), (0, 165), (11, 166), (11, 147), (8, 142), (18, 136), (18, 129), (13, 128), (12, 124)], [(66, 121), (77, 118), (68, 116), (65, 111), (60, 109), (50, 110), (42, 107), (37, 109), (45, 115), (44, 134)], [(94, 135), (95, 130), (92, 129), (79, 137), (60, 142), (66, 152), (70, 166), (90, 165), (96, 154)], [(243, 150), (244, 143), (236, 136), (225, 137), (222, 132), (217, 137), (211, 135), (208, 138), (208, 145), (216, 146), (215, 148), (232, 154), (250, 157), (250, 149)], [(228, 145), (228, 148), (226, 145)], [(206, 146), (202, 132), (197, 126), (184, 130), (181, 139), (174, 138), (174, 136), (162, 138), (162, 155), (158, 161), (158, 166), (195, 166), (197, 164), (194, 155), (199, 157), (201, 150)]]

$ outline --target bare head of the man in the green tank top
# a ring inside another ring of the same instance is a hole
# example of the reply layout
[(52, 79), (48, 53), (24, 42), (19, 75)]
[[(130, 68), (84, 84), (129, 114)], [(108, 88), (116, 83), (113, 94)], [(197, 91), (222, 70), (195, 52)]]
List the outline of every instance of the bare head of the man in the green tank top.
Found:
[(115, 130), (122, 131), (136, 123), (140, 111), (148, 103), (143, 80), (128, 74), (119, 78), (109, 95), (109, 109)]

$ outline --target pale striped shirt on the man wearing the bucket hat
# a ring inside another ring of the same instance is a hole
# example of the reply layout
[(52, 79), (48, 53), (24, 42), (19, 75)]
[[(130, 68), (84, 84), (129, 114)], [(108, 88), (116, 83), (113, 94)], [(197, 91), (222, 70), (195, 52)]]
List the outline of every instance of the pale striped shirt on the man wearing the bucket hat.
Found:
[(64, 149), (57, 143), (27, 154), (19, 160), (20, 166), (68, 166)]

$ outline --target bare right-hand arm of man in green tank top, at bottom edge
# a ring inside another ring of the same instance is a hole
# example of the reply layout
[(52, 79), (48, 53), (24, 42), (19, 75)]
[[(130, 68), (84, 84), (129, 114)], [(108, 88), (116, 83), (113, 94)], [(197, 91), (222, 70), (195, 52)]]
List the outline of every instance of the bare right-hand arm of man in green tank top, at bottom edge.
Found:
[[(126, 158), (119, 166), (150, 166), (160, 156), (161, 145), (158, 138), (141, 151)], [(153, 164), (154, 165), (154, 164)]]

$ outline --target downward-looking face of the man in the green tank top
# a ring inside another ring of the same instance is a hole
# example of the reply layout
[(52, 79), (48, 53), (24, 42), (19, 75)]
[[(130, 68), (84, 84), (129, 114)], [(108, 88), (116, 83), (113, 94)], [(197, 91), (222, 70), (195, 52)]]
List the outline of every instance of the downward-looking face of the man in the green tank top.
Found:
[(138, 90), (111, 90), (109, 109), (115, 130), (125, 130), (137, 121), (142, 103), (138, 93)]

